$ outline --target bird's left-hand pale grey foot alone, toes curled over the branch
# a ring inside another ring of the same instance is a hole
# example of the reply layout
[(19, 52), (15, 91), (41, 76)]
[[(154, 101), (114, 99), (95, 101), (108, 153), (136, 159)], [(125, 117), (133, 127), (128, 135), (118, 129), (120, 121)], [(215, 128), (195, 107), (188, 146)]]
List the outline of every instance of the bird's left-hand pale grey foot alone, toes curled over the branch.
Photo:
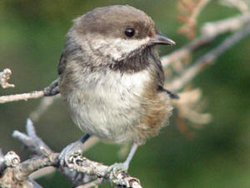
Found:
[(68, 159), (75, 153), (82, 153), (82, 152), (83, 152), (83, 143), (80, 140), (71, 143), (70, 145), (65, 147), (59, 154), (58, 158), (60, 160), (60, 165), (62, 166), (65, 165)]

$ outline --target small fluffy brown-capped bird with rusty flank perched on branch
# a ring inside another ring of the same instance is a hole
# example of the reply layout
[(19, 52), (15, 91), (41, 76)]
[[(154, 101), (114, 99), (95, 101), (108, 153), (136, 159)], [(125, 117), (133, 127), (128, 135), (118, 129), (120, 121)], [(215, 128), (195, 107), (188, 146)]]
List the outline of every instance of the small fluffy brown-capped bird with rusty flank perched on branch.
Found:
[(96, 8), (74, 20), (58, 66), (59, 88), (76, 125), (86, 133), (66, 147), (64, 158), (90, 136), (138, 145), (167, 125), (172, 107), (156, 45), (174, 45), (143, 11), (128, 5)]

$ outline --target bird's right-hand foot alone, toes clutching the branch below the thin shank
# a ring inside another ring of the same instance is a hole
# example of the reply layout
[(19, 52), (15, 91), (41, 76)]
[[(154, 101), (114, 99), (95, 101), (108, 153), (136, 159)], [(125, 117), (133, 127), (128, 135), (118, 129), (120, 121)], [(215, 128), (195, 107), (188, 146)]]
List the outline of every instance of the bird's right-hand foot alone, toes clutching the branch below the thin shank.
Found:
[(109, 179), (117, 179), (120, 173), (127, 173), (129, 165), (127, 163), (115, 163), (111, 165), (108, 170), (107, 174)]

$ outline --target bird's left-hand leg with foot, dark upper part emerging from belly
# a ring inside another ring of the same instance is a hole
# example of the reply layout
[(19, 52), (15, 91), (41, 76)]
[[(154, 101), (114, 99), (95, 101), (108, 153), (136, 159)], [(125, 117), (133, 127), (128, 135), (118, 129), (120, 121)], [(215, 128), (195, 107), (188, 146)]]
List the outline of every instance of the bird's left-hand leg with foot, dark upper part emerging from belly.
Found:
[(65, 147), (59, 155), (61, 165), (64, 164), (71, 155), (74, 153), (82, 153), (84, 143), (89, 139), (90, 135), (85, 134), (82, 138), (77, 140), (76, 142), (71, 143), (67, 147)]

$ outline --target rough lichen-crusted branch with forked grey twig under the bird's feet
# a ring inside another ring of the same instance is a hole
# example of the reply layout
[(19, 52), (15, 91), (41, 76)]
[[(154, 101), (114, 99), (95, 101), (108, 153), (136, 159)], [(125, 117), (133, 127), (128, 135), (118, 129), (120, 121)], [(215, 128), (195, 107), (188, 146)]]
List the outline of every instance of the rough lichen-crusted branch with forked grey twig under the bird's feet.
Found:
[[(116, 174), (113, 174), (113, 172), (109, 171), (109, 166), (91, 161), (83, 157), (79, 153), (71, 155), (68, 160), (66, 160), (62, 165), (58, 158), (59, 153), (53, 152), (42, 141), (42, 139), (37, 136), (31, 120), (27, 120), (26, 132), (27, 134), (21, 133), (19, 131), (14, 131), (13, 137), (18, 138), (29, 150), (35, 152), (36, 154), (38, 154), (38, 156), (22, 163), (20, 163), (19, 161), (18, 165), (11, 166), (12, 178), (8, 179), (8, 183), (12, 185), (17, 182), (20, 183), (28, 181), (28, 177), (36, 170), (42, 169), (47, 166), (53, 166), (77, 185), (85, 184), (85, 176), (88, 175), (88, 181), (92, 180), (93, 178), (101, 178), (103, 180), (110, 181), (114, 184), (124, 187), (141, 188), (140, 181), (134, 177), (131, 177), (128, 173), (118, 171)], [(10, 165), (8, 165), (3, 170), (4, 174), (6, 174), (5, 172), (9, 170), (9, 166)], [(10, 176), (10, 173), (8, 173), (7, 175)], [(1, 186), (6, 185), (6, 182), (1, 182), (1, 180), (3, 179), (7, 180), (5, 175), (0, 179)], [(94, 182), (97, 183), (99, 181), (96, 180)]]

